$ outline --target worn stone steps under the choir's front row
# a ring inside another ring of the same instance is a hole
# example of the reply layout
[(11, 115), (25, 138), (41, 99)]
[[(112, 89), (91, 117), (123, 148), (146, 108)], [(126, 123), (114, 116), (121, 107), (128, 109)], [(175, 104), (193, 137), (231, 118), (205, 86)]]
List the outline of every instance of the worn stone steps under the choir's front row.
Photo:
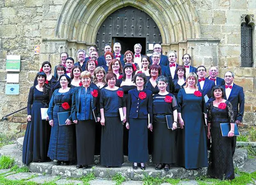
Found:
[[(16, 144), (10, 144), (0, 149), (0, 155), (10, 156), (15, 159), (15, 163), (18, 166), (23, 166), (22, 163), (22, 146), (23, 138), (18, 138)], [(234, 166), (241, 168), (247, 161), (247, 151), (245, 149), (237, 149), (233, 158)], [(149, 162), (146, 163), (146, 170), (141, 169), (134, 170), (132, 163), (128, 161), (127, 156), (124, 156), (124, 163), (121, 168), (106, 168), (99, 165), (99, 156), (95, 156), (95, 166), (90, 169), (76, 169), (75, 165), (69, 166), (56, 166), (55, 162), (32, 162), (28, 166), (31, 172), (40, 174), (49, 174), (52, 176), (61, 175), (65, 177), (79, 178), (86, 176), (90, 172), (94, 172), (96, 178), (111, 179), (114, 174), (121, 174), (122, 176), (130, 180), (142, 180), (144, 176), (152, 177), (167, 177), (167, 178), (186, 178), (195, 179), (200, 176), (206, 175), (207, 168), (201, 168), (199, 170), (186, 170), (182, 167), (171, 167), (169, 171), (155, 170), (154, 164), (151, 162), (151, 156)]]

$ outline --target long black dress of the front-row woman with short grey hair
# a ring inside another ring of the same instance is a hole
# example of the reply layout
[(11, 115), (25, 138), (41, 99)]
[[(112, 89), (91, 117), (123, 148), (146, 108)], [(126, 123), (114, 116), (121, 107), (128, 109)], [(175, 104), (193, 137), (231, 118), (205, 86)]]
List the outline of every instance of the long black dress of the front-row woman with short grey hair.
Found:
[[(172, 102), (165, 102), (165, 97), (172, 97)], [(168, 129), (165, 115), (171, 115), (178, 109), (177, 101), (171, 93), (153, 95), (153, 152), (155, 163), (171, 164), (176, 162), (175, 132)]]

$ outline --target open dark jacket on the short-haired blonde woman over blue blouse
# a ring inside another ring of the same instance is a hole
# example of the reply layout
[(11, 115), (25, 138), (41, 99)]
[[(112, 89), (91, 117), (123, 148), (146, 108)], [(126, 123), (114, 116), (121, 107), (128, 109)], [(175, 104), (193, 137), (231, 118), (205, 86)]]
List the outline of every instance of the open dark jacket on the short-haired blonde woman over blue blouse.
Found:
[[(71, 115), (72, 115), (72, 120), (77, 120), (77, 113), (79, 111), (79, 106), (80, 106), (80, 95), (82, 92), (82, 87), (76, 87), (73, 91), (73, 95), (72, 95), (72, 108), (71, 108)], [(95, 88), (93, 88), (92, 86), (89, 86), (90, 88), (90, 92), (93, 91)], [(97, 89), (95, 89), (97, 90)], [(100, 96), (100, 92), (98, 91), (98, 96), (97, 97), (93, 97), (91, 95), (91, 109), (94, 110), (96, 108), (97, 110), (97, 115), (95, 115), (96, 117), (101, 117), (100, 115), (100, 106), (99, 106), (99, 96)], [(92, 113), (93, 114), (93, 113)], [(92, 115), (92, 117), (94, 117), (94, 115)]]

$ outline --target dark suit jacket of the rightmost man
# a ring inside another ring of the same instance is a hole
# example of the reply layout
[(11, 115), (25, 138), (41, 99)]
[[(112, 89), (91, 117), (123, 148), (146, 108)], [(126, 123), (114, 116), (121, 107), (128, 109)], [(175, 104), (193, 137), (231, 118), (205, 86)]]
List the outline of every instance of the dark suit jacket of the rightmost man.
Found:
[[(224, 92), (225, 92), (224, 99), (226, 99), (225, 85), (222, 87), (224, 88)], [(233, 87), (231, 89), (229, 99), (226, 99), (226, 100), (231, 102), (233, 106), (235, 120), (242, 122), (242, 118), (245, 111), (245, 94), (244, 94), (243, 88), (233, 83)]]

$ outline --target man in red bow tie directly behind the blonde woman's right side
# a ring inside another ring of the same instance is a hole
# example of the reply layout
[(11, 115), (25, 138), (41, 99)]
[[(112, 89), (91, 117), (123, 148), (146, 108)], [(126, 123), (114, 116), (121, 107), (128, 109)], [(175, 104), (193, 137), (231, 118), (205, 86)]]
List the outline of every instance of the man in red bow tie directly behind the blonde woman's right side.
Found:
[(202, 96), (211, 97), (212, 88), (215, 86), (214, 81), (209, 80), (206, 78), (206, 68), (203, 65), (197, 67), (197, 76), (198, 76), (198, 83), (197, 86), (199, 90), (202, 92)]

